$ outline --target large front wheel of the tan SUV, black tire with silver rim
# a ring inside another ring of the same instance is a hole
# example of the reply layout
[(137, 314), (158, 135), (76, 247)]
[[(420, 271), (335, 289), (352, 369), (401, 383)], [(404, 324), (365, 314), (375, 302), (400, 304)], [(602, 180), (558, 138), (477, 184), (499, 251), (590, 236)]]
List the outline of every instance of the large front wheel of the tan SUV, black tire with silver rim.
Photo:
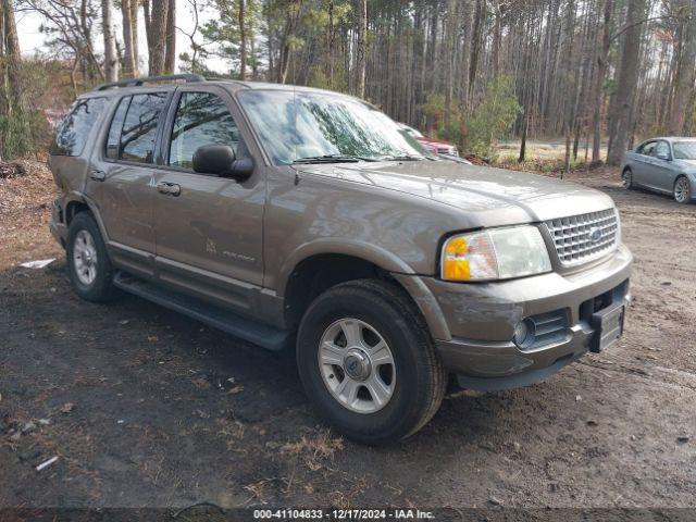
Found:
[[(361, 340), (349, 344), (346, 332)], [(343, 283), (310, 304), (298, 332), (297, 364), (319, 414), (368, 445), (418, 432), (439, 408), (447, 384), (419, 310), (399, 287), (375, 279)]]

